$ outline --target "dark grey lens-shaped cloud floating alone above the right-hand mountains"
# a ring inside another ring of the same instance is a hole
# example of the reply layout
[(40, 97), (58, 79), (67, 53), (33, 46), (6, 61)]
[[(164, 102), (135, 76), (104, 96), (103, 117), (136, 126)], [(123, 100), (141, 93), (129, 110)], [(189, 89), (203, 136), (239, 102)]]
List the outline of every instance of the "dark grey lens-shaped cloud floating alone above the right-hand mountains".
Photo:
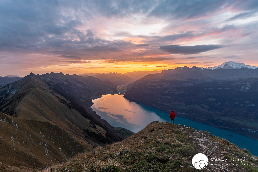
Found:
[(198, 54), (210, 50), (222, 48), (221, 45), (194, 45), (194, 46), (179, 46), (179, 45), (168, 45), (160, 46), (159, 49), (169, 52), (171, 54)]

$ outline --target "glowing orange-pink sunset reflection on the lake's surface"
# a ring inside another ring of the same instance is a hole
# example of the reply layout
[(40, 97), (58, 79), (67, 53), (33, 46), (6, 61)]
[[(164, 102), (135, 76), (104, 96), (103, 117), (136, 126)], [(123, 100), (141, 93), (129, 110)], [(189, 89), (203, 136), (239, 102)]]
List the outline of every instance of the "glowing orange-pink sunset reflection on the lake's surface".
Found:
[[(152, 121), (165, 121), (155, 112), (143, 108), (140, 104), (129, 101), (124, 95), (107, 94), (92, 100), (91, 108), (115, 127), (123, 127), (132, 132), (139, 132)], [(139, 128), (138, 128), (139, 127)]]

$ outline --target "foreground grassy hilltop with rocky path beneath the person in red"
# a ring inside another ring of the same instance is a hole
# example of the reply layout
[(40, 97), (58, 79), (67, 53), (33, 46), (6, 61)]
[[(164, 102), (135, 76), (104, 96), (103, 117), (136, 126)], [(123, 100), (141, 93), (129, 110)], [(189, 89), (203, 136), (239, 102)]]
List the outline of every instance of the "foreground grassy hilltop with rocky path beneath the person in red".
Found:
[[(197, 153), (208, 157), (205, 171), (258, 171), (258, 158), (246, 149), (239, 149), (208, 132), (154, 121), (122, 142), (105, 148), (98, 147), (93, 152), (80, 154), (67, 163), (52, 166), (43, 172), (199, 171), (192, 167), (192, 157)], [(232, 161), (232, 158), (236, 161)], [(244, 158), (245, 165), (236, 165)], [(216, 159), (224, 161), (215, 161)]]

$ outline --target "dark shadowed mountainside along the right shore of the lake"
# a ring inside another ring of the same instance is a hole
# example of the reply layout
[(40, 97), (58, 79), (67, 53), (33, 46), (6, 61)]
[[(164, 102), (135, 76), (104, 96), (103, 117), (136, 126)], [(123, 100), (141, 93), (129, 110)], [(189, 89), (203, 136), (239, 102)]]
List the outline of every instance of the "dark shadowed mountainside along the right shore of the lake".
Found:
[[(258, 68), (178, 67), (128, 84), (125, 98), (258, 139)], [(248, 123), (248, 124), (246, 124)]]

